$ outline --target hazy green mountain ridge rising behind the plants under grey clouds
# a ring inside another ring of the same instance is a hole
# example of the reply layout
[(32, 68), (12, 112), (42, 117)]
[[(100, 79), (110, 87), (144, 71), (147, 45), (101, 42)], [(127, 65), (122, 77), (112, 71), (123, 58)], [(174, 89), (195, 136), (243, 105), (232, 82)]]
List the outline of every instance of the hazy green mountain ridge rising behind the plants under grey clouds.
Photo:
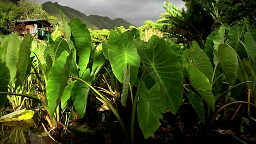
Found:
[(43, 9), (50, 15), (57, 17), (58, 21), (61, 21), (61, 15), (59, 13), (59, 9), (62, 11), (63, 14), (66, 15), (66, 19), (69, 21), (74, 17), (78, 17), (81, 21), (83, 21), (88, 28), (91, 29), (113, 29), (114, 27), (124, 26), (128, 28), (132, 24), (130, 22), (125, 21), (122, 18), (117, 19), (110, 19), (107, 16), (100, 16), (100, 15), (85, 15), (84, 13), (70, 8), (68, 6), (60, 5), (57, 2), (45, 2), (42, 4)]

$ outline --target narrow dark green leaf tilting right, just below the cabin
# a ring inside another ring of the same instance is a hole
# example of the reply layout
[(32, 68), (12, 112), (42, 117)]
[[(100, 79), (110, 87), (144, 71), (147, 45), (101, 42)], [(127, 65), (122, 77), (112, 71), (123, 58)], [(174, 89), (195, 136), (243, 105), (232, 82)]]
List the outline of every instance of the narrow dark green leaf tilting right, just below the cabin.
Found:
[[(30, 47), (33, 39), (31, 38), (31, 35), (27, 33), (22, 40), (22, 43), (20, 45), (19, 50), (19, 60), (16, 64), (17, 73), (16, 73), (16, 86), (19, 86), (23, 83), (25, 77), (27, 68), (31, 65), (30, 61)], [(30, 67), (29, 67), (30, 68)]]

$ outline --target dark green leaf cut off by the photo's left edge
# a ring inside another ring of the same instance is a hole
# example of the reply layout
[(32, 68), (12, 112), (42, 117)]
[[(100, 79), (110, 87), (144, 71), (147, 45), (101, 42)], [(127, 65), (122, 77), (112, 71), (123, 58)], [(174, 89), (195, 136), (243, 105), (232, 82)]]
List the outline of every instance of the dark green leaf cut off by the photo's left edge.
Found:
[[(10, 81), (10, 71), (4, 62), (0, 62), (0, 92), (8, 91)], [(7, 100), (6, 94), (0, 94), (0, 108), (4, 106)]]

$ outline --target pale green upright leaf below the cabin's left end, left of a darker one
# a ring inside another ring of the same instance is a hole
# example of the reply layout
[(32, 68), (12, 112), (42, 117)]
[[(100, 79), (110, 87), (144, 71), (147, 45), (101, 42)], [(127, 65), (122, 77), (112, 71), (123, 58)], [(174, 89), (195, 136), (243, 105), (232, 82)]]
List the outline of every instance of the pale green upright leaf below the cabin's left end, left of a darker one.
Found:
[(6, 54), (6, 65), (10, 70), (10, 81), (15, 81), (16, 76), (16, 64), (19, 60), (20, 40), (16, 33), (11, 33), (8, 36), (8, 47)]

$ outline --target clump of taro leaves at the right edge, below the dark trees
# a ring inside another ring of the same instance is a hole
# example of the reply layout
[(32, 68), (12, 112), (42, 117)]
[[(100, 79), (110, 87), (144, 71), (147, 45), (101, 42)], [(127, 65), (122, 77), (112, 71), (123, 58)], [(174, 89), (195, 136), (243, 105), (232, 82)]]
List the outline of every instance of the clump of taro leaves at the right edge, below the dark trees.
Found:
[(190, 49), (183, 51), (188, 75), (185, 94), (206, 125), (211, 125), (222, 110), (234, 104), (248, 104), (251, 117), (249, 105), (255, 106), (252, 60), (255, 39), (254, 32), (244, 29), (223, 25), (208, 36), (205, 51), (195, 41)]

